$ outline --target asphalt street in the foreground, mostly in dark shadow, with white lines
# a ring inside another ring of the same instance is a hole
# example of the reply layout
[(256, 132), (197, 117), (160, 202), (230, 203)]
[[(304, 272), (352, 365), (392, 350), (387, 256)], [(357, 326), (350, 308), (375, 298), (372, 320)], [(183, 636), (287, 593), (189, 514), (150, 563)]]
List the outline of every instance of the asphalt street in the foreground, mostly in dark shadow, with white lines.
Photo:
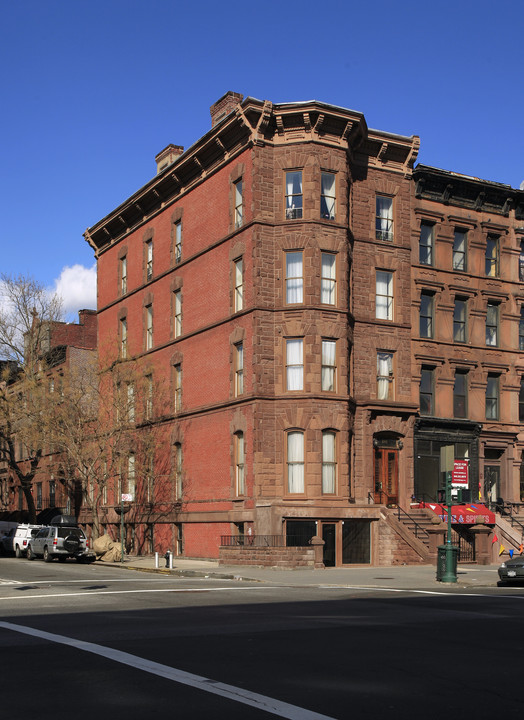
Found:
[(44, 720), (522, 715), (523, 588), (381, 582), (1, 558), (1, 707)]

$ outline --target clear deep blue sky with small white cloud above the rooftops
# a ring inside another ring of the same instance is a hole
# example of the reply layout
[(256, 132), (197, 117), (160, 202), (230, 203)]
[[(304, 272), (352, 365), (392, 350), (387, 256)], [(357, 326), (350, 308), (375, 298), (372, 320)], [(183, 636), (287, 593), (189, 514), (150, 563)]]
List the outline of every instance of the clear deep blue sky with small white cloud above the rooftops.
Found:
[(189, 147), (227, 90), (420, 135), (418, 161), (524, 180), (522, 0), (17, 0), (0, 26), (0, 271), (94, 306), (82, 233)]

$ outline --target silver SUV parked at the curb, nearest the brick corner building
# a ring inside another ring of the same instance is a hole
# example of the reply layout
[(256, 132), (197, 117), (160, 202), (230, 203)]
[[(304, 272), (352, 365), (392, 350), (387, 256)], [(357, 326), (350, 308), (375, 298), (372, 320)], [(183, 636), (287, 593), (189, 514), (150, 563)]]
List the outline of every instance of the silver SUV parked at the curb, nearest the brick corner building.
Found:
[[(74, 523), (74, 524), (73, 524)], [(34, 560), (43, 557), (45, 562), (51, 562), (57, 557), (65, 562), (68, 557), (76, 558), (77, 562), (85, 562), (94, 556), (89, 552), (89, 545), (82, 528), (79, 528), (74, 518), (67, 516), (55, 518), (51, 525), (39, 530), (27, 547), (27, 559)]]

